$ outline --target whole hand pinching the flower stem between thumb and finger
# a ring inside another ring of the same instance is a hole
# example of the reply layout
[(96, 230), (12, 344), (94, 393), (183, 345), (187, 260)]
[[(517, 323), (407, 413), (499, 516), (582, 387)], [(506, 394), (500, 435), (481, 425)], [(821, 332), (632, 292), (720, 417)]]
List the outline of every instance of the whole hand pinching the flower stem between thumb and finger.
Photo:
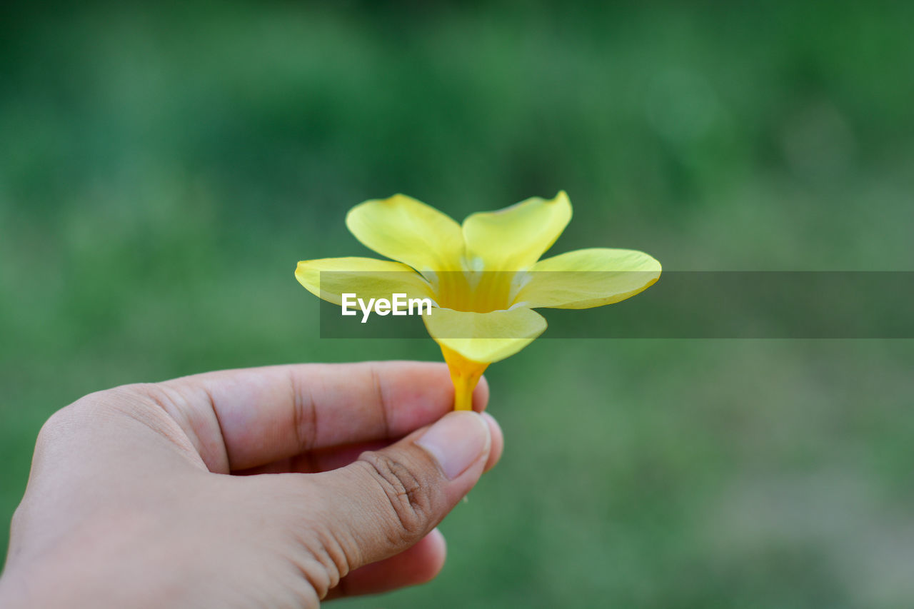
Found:
[(502, 433), (446, 366), (303, 364), (90, 394), (38, 435), (4, 607), (317, 607), (427, 582)]

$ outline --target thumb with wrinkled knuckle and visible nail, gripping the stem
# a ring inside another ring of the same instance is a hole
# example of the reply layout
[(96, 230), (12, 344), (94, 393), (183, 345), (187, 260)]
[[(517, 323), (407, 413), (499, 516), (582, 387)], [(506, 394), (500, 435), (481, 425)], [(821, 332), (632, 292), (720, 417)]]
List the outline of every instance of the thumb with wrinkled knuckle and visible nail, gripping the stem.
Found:
[(425, 537), (479, 480), (491, 446), (479, 414), (455, 411), (350, 465), (310, 476), (326, 501), (325, 532), (343, 550), (348, 570)]

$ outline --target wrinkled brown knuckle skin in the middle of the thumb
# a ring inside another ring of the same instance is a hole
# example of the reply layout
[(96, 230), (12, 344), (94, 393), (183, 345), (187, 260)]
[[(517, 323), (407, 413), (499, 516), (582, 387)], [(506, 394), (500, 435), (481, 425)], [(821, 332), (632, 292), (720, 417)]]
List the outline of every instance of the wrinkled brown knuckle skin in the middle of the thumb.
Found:
[(360, 459), (370, 468), (396, 517), (399, 526), (393, 535), (399, 539), (393, 541), (419, 540), (427, 532), (434, 511), (431, 487), (423, 484), (409, 465), (389, 454), (369, 452)]

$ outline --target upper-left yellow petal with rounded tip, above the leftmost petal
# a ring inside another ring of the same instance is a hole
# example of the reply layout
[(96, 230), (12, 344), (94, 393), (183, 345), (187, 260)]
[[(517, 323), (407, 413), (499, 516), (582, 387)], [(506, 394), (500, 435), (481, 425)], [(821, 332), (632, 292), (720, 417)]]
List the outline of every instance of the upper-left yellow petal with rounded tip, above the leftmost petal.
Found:
[(349, 210), (345, 225), (367, 247), (419, 272), (461, 268), (460, 225), (406, 195), (360, 203)]

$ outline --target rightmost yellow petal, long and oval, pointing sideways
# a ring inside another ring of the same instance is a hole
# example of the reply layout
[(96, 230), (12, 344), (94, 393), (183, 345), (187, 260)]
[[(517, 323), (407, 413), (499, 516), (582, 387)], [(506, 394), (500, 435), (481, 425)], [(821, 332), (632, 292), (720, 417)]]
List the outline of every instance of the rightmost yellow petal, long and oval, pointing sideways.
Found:
[(643, 251), (569, 251), (534, 264), (514, 303), (558, 309), (610, 305), (646, 290), (660, 271), (660, 262)]

